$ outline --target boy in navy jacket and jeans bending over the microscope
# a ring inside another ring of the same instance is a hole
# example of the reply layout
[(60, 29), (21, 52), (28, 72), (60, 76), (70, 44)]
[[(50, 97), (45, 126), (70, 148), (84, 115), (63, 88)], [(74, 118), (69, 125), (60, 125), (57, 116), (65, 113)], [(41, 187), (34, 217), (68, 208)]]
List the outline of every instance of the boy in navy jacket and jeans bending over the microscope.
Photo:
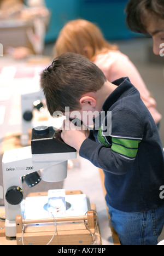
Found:
[(106, 201), (121, 245), (157, 245), (164, 224), (164, 156), (159, 132), (138, 90), (128, 78), (109, 83), (94, 63), (73, 53), (56, 58), (43, 71), (41, 85), (51, 115), (65, 113), (66, 107), (70, 113), (78, 110), (83, 128), (90, 124), (85, 115), (95, 115), (89, 137), (85, 129), (68, 129), (69, 121), (61, 137), (104, 170)]

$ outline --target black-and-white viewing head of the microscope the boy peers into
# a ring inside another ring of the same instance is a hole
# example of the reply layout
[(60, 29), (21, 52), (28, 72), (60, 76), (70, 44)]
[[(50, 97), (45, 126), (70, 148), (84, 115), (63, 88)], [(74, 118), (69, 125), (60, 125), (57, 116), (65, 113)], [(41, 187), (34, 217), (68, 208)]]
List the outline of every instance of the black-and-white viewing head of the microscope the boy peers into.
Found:
[(38, 126), (32, 130), (31, 150), (33, 160), (56, 160), (56, 165), (40, 170), (45, 182), (59, 182), (67, 178), (67, 160), (76, 158), (76, 150), (61, 139), (61, 132), (53, 127)]

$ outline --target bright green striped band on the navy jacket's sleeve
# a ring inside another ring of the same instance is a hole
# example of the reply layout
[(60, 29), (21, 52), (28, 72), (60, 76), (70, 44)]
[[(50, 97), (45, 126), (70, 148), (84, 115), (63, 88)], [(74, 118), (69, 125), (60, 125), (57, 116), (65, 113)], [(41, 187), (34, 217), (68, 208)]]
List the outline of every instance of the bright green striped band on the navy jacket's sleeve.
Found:
[(136, 158), (140, 141), (133, 139), (112, 138), (112, 150), (128, 158)]

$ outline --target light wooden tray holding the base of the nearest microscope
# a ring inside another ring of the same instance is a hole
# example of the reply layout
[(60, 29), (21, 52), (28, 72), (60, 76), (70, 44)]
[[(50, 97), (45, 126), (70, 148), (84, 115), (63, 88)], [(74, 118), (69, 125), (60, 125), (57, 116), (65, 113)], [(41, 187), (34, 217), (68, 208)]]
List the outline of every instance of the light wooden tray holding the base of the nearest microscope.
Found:
[[(29, 196), (45, 196), (48, 193), (32, 193)], [(81, 191), (66, 191), (66, 195), (83, 194)], [(56, 234), (50, 245), (94, 245), (93, 236), (96, 225), (96, 207), (91, 204), (91, 211), (86, 216), (60, 217), (56, 219)], [(87, 227), (84, 221), (87, 223)], [(17, 245), (22, 245), (22, 228), (25, 226), (23, 234), (24, 245), (46, 245), (54, 235), (54, 219), (25, 219), (16, 216), (16, 241)], [(90, 232), (91, 231), (91, 232)], [(98, 245), (102, 245), (101, 235), (97, 225), (95, 233)]]

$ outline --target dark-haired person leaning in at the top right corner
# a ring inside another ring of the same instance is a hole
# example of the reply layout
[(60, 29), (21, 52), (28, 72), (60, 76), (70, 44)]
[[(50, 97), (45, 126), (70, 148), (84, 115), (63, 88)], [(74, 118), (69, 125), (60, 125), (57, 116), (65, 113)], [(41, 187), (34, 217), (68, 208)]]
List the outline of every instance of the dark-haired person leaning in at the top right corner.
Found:
[(150, 34), (154, 54), (164, 56), (164, 1), (130, 0), (126, 7), (127, 25), (138, 33)]

